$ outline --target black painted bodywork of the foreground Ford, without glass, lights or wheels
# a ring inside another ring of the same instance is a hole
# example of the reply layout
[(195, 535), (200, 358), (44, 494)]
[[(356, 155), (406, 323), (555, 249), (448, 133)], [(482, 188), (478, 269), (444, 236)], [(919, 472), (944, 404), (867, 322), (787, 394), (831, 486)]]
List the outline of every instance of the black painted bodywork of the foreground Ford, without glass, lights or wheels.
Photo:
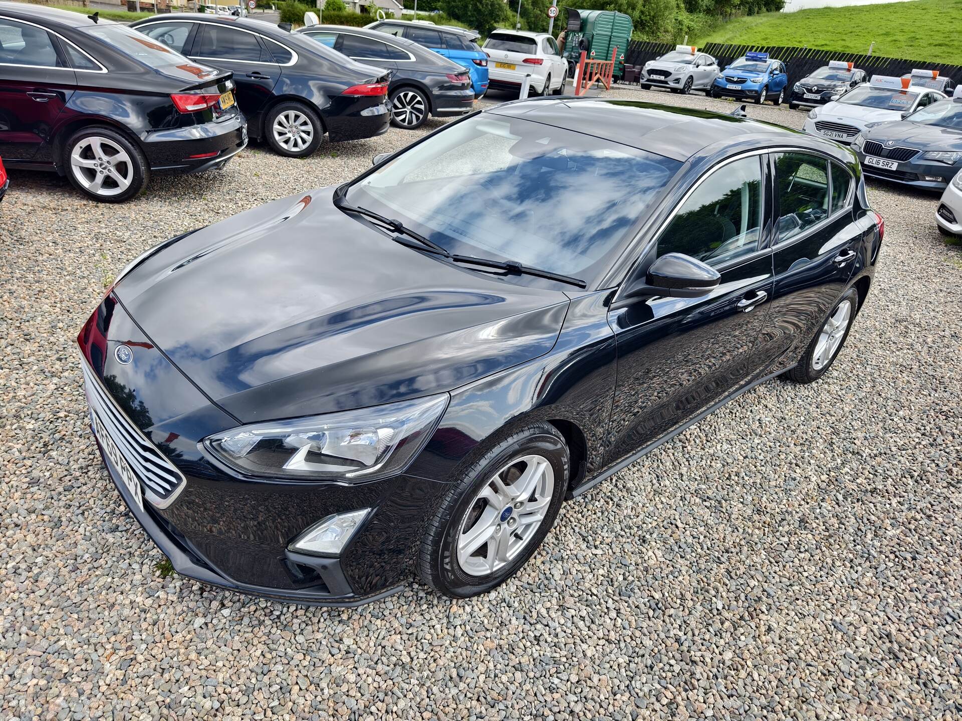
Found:
[[(79, 337), (85, 358), (187, 477), (171, 506), (139, 514), (182, 573), (299, 602), (389, 591), (410, 575), (426, 519), (459, 468), (493, 438), (555, 424), (571, 449), (576, 494), (792, 367), (846, 288), (861, 300), (868, 292), (876, 217), (854, 155), (834, 143), (623, 101), (529, 100), (486, 112), (591, 128), (683, 161), (634, 240), (587, 289), (418, 252), (338, 211), (324, 188), (168, 242), (91, 316)], [(766, 154), (786, 147), (844, 163), (857, 191), (807, 235), (772, 245), (778, 211)], [(631, 297), (671, 211), (719, 162), (744, 153), (764, 160), (757, 250), (715, 268), (718, 279), (702, 273), (696, 297)], [(754, 298), (746, 312), (743, 301)], [(134, 349), (133, 362), (114, 360), (118, 343)], [(244, 423), (444, 391), (450, 402), (424, 450), (382, 481), (265, 482), (228, 472), (200, 444)], [(375, 511), (336, 567), (292, 575), (285, 549), (295, 536), (364, 507)]]

